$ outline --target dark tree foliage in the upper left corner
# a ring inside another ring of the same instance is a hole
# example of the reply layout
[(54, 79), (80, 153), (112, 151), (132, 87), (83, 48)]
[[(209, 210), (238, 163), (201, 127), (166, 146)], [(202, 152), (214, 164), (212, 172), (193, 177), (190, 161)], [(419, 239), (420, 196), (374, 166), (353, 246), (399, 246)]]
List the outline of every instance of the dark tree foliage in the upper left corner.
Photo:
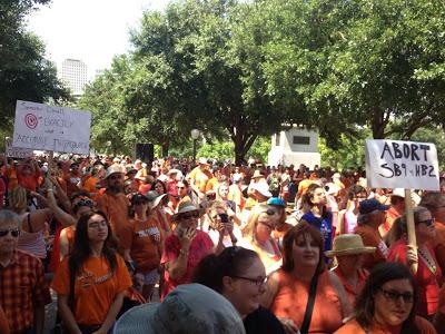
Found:
[(18, 99), (43, 102), (68, 99), (44, 46), (24, 30), (24, 18), (47, 0), (0, 1), (0, 129), (10, 129)]

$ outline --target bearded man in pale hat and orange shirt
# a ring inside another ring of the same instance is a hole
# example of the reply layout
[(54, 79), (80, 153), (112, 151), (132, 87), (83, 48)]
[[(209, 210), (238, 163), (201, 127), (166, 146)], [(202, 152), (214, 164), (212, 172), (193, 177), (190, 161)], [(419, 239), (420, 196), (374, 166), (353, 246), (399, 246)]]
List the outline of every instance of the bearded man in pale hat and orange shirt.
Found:
[(120, 165), (108, 167), (106, 193), (99, 198), (97, 207), (107, 215), (111, 229), (119, 240), (122, 229), (129, 224), (130, 202), (123, 193), (125, 169)]

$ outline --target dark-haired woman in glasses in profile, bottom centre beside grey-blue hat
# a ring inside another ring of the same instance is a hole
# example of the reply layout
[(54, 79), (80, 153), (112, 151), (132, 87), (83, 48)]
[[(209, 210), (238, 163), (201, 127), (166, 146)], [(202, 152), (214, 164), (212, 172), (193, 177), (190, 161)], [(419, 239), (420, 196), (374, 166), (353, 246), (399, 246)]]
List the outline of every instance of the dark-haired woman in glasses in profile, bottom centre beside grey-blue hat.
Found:
[(194, 282), (225, 296), (238, 311), (247, 334), (285, 334), (283, 325), (267, 308), (260, 307), (266, 291), (266, 271), (258, 254), (243, 247), (227, 247), (208, 255), (194, 272)]

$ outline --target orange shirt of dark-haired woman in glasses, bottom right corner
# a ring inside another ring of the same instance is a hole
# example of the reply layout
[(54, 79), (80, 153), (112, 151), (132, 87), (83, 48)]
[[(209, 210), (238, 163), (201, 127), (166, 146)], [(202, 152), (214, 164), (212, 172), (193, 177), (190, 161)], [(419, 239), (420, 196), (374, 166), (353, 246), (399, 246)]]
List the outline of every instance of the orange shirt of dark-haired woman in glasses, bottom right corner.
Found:
[[(421, 334), (437, 334), (433, 325), (422, 316), (416, 316), (414, 323)], [(383, 326), (374, 323), (372, 328), (365, 331), (355, 320), (347, 322), (342, 328), (334, 334), (403, 334), (402, 326)]]

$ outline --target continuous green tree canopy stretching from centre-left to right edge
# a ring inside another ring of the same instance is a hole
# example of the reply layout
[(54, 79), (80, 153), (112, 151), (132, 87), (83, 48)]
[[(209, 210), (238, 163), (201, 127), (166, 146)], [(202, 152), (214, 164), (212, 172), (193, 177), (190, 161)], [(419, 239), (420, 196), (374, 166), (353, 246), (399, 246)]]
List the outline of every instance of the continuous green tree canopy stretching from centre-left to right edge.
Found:
[(144, 14), (132, 51), (82, 108), (97, 110), (98, 143), (115, 129), (113, 145), (166, 154), (198, 128), (228, 136), (237, 163), (290, 124), (317, 128), (329, 147), (365, 127), (408, 139), (443, 125), (444, 31), (443, 1), (178, 0)]

